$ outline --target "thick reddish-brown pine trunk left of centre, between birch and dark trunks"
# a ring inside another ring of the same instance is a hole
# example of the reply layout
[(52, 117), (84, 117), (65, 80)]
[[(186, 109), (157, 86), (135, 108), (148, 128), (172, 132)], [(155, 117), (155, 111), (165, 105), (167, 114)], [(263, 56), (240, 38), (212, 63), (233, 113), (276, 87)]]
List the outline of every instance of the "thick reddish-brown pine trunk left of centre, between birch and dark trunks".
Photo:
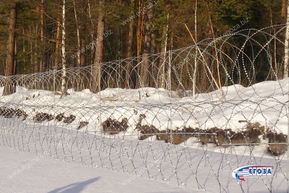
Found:
[(104, 12), (103, 0), (99, 2), (99, 16), (97, 23), (97, 39), (95, 46), (95, 59), (94, 59), (94, 77), (92, 80), (92, 91), (97, 93), (101, 88), (101, 62), (103, 57), (103, 37), (104, 37)]

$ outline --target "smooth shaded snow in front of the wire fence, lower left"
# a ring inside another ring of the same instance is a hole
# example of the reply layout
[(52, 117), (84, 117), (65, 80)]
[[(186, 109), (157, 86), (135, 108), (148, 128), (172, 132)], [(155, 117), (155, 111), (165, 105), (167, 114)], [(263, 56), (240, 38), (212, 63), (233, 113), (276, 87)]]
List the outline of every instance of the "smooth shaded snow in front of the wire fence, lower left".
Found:
[(0, 146), (1, 193), (191, 193), (160, 181)]

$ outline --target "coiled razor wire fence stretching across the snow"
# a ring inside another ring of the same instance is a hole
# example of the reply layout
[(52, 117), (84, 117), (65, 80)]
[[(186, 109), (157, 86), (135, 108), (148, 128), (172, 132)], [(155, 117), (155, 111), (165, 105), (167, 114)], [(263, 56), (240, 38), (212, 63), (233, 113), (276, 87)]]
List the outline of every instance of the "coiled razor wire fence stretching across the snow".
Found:
[[(286, 191), (289, 79), (272, 51), (285, 47), (286, 26), (274, 27), (65, 73), (0, 76), (0, 93), (15, 91), (0, 97), (0, 145), (192, 190)], [(274, 170), (232, 177), (248, 165)]]

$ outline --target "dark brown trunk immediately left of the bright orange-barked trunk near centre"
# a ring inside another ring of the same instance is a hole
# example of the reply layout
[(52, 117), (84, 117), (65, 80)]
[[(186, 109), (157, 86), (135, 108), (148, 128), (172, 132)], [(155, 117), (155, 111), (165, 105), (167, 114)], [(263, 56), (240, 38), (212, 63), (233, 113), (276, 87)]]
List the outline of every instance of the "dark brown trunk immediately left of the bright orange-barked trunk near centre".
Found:
[[(135, 0), (131, 0), (132, 5), (134, 6)], [(132, 9), (131, 15), (134, 14), (134, 10)], [(133, 57), (133, 40), (134, 40), (134, 19), (130, 21), (129, 24), (129, 37), (128, 37), (128, 54), (127, 58)], [(134, 76), (132, 74), (133, 70), (133, 61), (130, 61), (130, 63), (127, 64), (127, 77), (126, 77), (126, 88), (133, 88), (134, 83), (132, 80), (134, 80)]]

